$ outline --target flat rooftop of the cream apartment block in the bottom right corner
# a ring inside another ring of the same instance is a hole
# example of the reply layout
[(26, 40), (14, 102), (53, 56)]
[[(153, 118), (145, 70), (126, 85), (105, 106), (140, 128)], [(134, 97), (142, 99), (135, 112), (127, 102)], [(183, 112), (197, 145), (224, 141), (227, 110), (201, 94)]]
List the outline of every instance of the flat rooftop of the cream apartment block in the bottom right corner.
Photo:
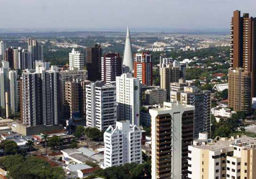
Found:
[[(252, 142), (256, 142), (256, 138), (252, 138), (252, 137), (248, 137), (248, 136), (241, 136), (239, 138), (236, 138), (234, 140), (228, 139), (226, 141), (217, 141), (215, 143), (208, 143), (206, 145), (200, 144), (200, 145), (193, 145), (193, 147), (199, 148), (199, 149), (207, 149), (210, 151), (218, 151), (220, 149), (225, 149), (225, 148), (229, 148), (230, 145), (235, 145), (236, 140), (241, 140), (241, 142), (239, 143), (252, 143)], [(203, 142), (203, 141), (207, 141), (207, 140), (195, 140), (197, 142)]]

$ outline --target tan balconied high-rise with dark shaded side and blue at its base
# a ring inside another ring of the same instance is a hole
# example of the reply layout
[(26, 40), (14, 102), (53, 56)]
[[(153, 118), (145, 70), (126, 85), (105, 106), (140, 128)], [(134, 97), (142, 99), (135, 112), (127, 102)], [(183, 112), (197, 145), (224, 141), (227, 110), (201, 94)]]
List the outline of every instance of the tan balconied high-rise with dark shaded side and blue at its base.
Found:
[(80, 81), (79, 79), (65, 82), (64, 105), (66, 107), (66, 116), (71, 119), (85, 117), (85, 85), (87, 84), (90, 84), (90, 81)]

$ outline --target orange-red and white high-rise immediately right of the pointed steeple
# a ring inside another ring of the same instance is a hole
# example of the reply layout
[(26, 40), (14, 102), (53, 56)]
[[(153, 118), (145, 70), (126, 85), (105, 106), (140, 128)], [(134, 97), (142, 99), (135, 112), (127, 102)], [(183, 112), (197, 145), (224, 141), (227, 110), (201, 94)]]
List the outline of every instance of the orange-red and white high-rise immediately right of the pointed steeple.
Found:
[(151, 54), (136, 53), (134, 59), (134, 77), (139, 78), (143, 85), (153, 85), (153, 61)]

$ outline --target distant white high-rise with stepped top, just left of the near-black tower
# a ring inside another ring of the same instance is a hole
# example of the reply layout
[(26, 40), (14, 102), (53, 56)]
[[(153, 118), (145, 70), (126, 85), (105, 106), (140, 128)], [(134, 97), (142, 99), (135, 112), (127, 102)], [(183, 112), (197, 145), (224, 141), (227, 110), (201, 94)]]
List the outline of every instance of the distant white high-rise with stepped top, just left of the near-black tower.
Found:
[(84, 69), (84, 54), (81, 51), (76, 51), (74, 48), (69, 53), (69, 69), (83, 70)]

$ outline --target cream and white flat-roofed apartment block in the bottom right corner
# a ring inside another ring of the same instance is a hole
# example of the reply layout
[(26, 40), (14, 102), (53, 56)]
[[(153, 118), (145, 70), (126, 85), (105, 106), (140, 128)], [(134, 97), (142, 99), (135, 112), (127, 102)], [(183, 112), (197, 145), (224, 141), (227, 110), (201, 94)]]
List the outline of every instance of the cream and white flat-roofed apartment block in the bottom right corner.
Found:
[(188, 146), (190, 179), (255, 179), (256, 140), (247, 136), (199, 139)]

